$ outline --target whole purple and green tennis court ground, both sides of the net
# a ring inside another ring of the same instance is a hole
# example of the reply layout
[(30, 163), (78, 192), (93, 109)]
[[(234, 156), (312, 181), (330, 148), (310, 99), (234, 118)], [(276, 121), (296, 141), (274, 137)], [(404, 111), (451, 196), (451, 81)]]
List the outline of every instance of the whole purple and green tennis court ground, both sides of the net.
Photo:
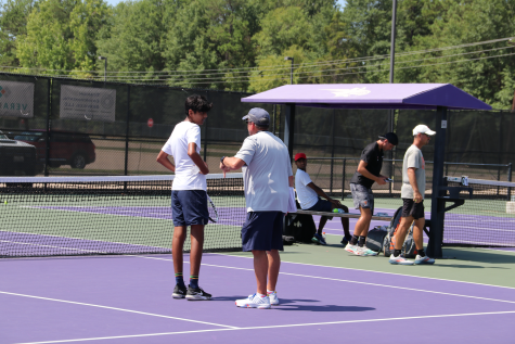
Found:
[[(325, 227), (327, 246), (285, 247), (279, 306), (235, 307), (254, 293), (255, 276), (252, 256), (237, 252), (245, 205), (241, 176), (233, 177), (208, 180), (219, 217), (206, 227), (211, 253), (199, 284), (214, 295), (208, 302), (171, 297), (169, 176), (2, 189), (0, 254), (9, 258), (0, 259), (0, 343), (513, 343), (515, 252), (446, 249), (453, 259), (391, 266), (345, 252), (337, 218)], [(392, 215), (394, 203), (376, 212)], [(477, 216), (481, 224), (511, 218)]]

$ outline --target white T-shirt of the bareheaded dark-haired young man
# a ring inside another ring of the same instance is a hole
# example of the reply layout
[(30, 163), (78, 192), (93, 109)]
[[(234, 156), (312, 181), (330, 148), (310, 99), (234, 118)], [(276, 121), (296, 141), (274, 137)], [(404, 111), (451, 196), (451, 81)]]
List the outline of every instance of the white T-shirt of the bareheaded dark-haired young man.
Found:
[(171, 190), (206, 190), (206, 176), (188, 155), (188, 144), (196, 143), (196, 152), (201, 153), (201, 127), (192, 122), (181, 122), (173, 128), (162, 151), (173, 156), (176, 178)]

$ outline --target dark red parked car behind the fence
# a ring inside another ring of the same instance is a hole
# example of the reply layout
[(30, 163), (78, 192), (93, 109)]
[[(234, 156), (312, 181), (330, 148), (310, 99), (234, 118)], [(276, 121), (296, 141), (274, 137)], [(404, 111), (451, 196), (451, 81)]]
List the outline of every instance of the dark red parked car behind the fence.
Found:
[[(39, 164), (44, 164), (47, 151), (47, 132), (44, 131), (24, 131), (14, 137), (37, 149), (37, 158)], [(72, 168), (85, 168), (96, 158), (94, 143), (90, 137), (85, 133), (75, 133), (66, 131), (50, 131), (50, 153), (49, 166), (60, 167), (69, 165)]]

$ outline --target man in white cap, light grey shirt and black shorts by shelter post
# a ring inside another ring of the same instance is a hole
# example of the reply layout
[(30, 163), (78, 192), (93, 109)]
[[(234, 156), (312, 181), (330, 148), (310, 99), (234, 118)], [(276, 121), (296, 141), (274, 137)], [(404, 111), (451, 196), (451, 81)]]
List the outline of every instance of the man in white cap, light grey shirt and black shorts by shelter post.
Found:
[[(424, 156), (421, 149), (429, 143), (433, 131), (426, 125), (417, 125), (413, 129), (413, 144), (405, 151), (402, 165), (402, 189), (400, 196), (402, 199), (402, 218), (399, 229), (392, 241), (395, 250), (389, 258), (390, 264), (413, 265), (413, 264), (435, 264), (435, 259), (429, 258), (424, 253), (423, 229), (425, 226), (424, 217), (424, 192), (426, 189), (426, 169)], [(413, 239), (416, 245), (415, 262), (408, 260), (400, 255), (405, 234), (411, 224), (415, 221), (413, 228)]]

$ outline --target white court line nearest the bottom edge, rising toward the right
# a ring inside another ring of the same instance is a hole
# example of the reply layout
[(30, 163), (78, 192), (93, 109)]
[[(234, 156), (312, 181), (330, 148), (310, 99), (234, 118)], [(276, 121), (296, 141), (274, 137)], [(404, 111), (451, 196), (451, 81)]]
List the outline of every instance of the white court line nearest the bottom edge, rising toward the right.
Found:
[(508, 310), (508, 311), (488, 311), (488, 313), (468, 313), (468, 314), (452, 314), (452, 315), (436, 315), (436, 316), (420, 316), (420, 317), (402, 317), (402, 318), (364, 319), (364, 320), (344, 320), (344, 321), (331, 321), (331, 322), (292, 323), (292, 324), (275, 324), (275, 326), (265, 326), (265, 327), (248, 327), (248, 328), (234, 328), (234, 329), (213, 329), (213, 330), (181, 331), (181, 332), (164, 332), (164, 333), (147, 333), (147, 334), (131, 334), (131, 335), (116, 335), (116, 336), (99, 336), (99, 337), (89, 337), (89, 339), (75, 339), (75, 340), (62, 340), (62, 341), (46, 341), (46, 342), (29, 342), (29, 343), (17, 343), (17, 344), (68, 343), (68, 342), (86, 342), (86, 341), (116, 340), (116, 339), (145, 337), (145, 336), (172, 335), (172, 334), (192, 334), (192, 333), (194, 334), (194, 333), (204, 333), (204, 332), (244, 331), (244, 330), (268, 330), (268, 329), (296, 328), (296, 327), (323, 326), (323, 324), (342, 324), (342, 323), (359, 323), (359, 322), (378, 322), (378, 321), (396, 321), (396, 320), (417, 320), (417, 319), (432, 319), (432, 318), (452, 318), (452, 317), (471, 317), (471, 316), (488, 316), (488, 315), (505, 315), (505, 314), (515, 314), (515, 310)]

